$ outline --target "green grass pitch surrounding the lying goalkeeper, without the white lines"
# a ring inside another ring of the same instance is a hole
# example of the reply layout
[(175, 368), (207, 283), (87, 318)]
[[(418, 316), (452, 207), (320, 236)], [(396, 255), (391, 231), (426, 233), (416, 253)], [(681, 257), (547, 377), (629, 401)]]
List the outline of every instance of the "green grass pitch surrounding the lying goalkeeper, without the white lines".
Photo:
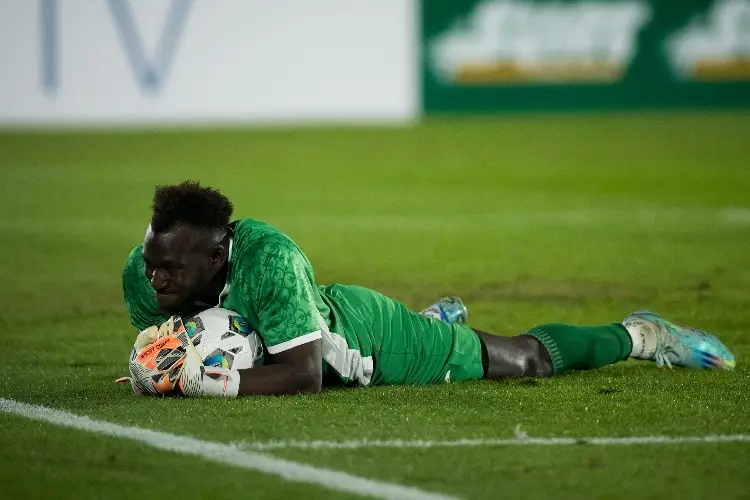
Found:
[[(431, 119), (415, 128), (0, 134), (0, 398), (461, 498), (750, 498), (750, 442), (414, 441), (750, 434), (750, 114)], [(120, 273), (153, 186), (194, 178), (300, 244), (320, 283), (464, 298), (514, 334), (648, 307), (735, 372), (628, 361), (545, 380), (137, 398)], [(398, 443), (374, 443), (393, 441)], [(333, 447), (328, 443), (348, 443)], [(0, 412), (3, 498), (344, 498)], [(406, 447), (404, 443), (411, 447)], [(305, 445), (306, 444), (306, 445)]]

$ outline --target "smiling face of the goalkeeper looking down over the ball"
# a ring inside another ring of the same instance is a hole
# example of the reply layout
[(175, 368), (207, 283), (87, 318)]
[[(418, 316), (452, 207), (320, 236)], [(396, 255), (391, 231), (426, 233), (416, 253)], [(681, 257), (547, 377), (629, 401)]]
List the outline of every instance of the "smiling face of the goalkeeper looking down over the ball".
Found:
[(145, 274), (164, 312), (180, 314), (193, 305), (213, 277), (211, 256), (205, 237), (191, 226), (159, 233), (149, 226), (143, 241)]

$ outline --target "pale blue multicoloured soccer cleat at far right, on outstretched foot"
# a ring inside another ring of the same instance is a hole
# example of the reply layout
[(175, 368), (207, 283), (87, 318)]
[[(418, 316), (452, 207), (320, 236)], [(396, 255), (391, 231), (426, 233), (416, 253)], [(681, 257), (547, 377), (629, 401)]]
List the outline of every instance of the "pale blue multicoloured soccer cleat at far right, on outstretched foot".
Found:
[(710, 333), (676, 325), (650, 311), (630, 313), (622, 324), (628, 330), (640, 330), (646, 343), (652, 345), (645, 358), (656, 361), (658, 367), (734, 370), (734, 355)]

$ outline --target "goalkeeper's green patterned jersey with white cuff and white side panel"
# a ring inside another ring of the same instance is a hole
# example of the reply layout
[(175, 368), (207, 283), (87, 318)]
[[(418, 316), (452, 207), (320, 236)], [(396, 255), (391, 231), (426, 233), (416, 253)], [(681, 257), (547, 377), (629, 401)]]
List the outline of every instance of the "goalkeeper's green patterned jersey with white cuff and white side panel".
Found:
[[(322, 339), (328, 381), (333, 376), (344, 383), (369, 384), (372, 328), (362, 327), (358, 313), (345, 300), (336, 301), (326, 294), (326, 287), (317, 286), (310, 262), (288, 236), (252, 219), (238, 220), (232, 229), (226, 286), (218, 304), (203, 306), (217, 305), (242, 315), (272, 355)], [(167, 319), (145, 276), (141, 252), (142, 245), (133, 249), (123, 272), (130, 322), (139, 330)]]

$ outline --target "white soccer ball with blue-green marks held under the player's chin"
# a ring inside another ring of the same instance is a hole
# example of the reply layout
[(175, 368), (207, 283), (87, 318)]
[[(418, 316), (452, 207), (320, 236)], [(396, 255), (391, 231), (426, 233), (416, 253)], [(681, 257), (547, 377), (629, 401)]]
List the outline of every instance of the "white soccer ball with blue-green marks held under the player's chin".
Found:
[(263, 341), (234, 311), (213, 307), (182, 319), (205, 366), (242, 370), (263, 364)]

